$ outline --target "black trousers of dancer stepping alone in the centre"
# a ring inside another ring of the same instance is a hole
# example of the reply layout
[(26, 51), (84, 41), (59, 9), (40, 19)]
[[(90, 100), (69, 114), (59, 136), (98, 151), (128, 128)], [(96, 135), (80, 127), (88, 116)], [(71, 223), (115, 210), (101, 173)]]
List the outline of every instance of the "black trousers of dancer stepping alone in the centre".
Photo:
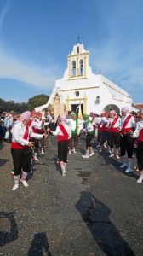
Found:
[(58, 159), (60, 162), (67, 162), (68, 143), (68, 141), (58, 142)]

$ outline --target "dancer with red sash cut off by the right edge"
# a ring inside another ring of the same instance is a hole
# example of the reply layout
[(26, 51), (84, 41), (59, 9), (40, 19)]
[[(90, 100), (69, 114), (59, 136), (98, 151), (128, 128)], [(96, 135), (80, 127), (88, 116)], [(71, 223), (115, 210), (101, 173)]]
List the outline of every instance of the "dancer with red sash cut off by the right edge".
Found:
[(143, 109), (140, 111), (140, 120), (136, 123), (135, 131), (130, 131), (131, 137), (138, 138), (136, 158), (140, 172), (140, 177), (137, 179), (137, 183), (143, 181)]

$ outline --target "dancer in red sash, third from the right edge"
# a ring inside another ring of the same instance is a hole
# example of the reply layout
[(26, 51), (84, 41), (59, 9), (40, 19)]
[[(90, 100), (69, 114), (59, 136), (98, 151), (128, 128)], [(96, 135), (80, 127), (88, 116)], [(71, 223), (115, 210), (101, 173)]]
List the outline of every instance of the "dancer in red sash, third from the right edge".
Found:
[[(120, 148), (120, 133), (118, 131), (118, 128), (120, 126), (120, 117), (117, 115), (115, 110), (111, 110), (109, 113), (109, 126), (110, 126), (110, 133), (109, 133), (109, 143), (110, 143), (110, 149), (109, 157), (116, 156), (117, 159), (120, 159), (119, 157), (119, 148)], [(114, 154), (114, 147), (115, 147), (115, 154)]]

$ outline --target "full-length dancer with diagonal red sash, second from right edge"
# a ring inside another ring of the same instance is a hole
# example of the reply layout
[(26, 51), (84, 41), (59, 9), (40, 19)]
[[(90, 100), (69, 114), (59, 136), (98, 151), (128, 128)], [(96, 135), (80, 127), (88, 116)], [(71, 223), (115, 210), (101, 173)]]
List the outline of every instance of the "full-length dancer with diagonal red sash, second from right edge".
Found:
[[(135, 120), (134, 116), (129, 113), (128, 107), (123, 107), (121, 109), (121, 122), (119, 131), (121, 134), (120, 137), (120, 155), (123, 161), (123, 164), (120, 168), (126, 167), (125, 172), (131, 172), (132, 166), (132, 155), (133, 155), (133, 148), (134, 148), (134, 139), (130, 137), (130, 131), (133, 131), (135, 128)], [(126, 160), (126, 153), (128, 156), (128, 165)]]

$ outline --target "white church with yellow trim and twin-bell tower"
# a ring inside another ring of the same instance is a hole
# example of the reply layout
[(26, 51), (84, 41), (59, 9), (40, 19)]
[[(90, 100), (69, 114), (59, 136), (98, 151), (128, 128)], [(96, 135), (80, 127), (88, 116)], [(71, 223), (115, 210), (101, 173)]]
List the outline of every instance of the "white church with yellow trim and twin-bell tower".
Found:
[(94, 74), (89, 66), (89, 50), (83, 44), (73, 46), (72, 53), (67, 55), (67, 68), (62, 79), (55, 80), (55, 86), (47, 104), (36, 108), (43, 108), (54, 103), (54, 96), (60, 96), (60, 103), (66, 105), (66, 111), (77, 111), (79, 105), (82, 113), (97, 114), (114, 109), (120, 113), (124, 106), (130, 111), (138, 111), (133, 103), (133, 97), (117, 84), (106, 79), (101, 73)]

